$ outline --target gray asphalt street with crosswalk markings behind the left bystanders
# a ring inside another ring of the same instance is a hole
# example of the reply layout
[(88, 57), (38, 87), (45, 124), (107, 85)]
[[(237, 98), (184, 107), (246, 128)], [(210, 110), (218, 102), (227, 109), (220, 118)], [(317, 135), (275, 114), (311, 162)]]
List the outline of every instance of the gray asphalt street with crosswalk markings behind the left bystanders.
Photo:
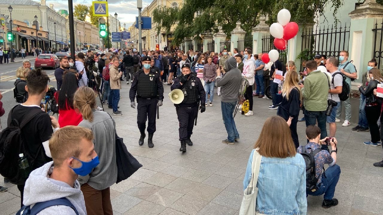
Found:
[[(3, 102), (3, 108), (5, 109), (5, 114), (0, 118), (1, 125), (3, 128), (7, 127), (7, 118), (10, 109), (15, 106), (15, 98), (13, 98), (13, 88), (15, 88), (16, 78), (16, 69), (22, 66), (22, 63), (13, 63), (13, 64), (2, 64), (0, 65), (0, 91), (3, 95), (1, 101)], [(34, 68), (34, 60), (31, 60), (31, 67)], [(51, 82), (49, 85), (57, 88), (56, 79), (54, 78), (54, 69), (52, 68), (44, 68), (46, 73), (51, 78)]]

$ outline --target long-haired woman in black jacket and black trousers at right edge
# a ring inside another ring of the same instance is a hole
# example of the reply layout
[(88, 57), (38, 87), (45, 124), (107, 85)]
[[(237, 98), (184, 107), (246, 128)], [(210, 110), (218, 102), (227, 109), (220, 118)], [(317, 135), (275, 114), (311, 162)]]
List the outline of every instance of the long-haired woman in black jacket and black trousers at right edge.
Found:
[(370, 127), (371, 141), (363, 142), (365, 145), (377, 146), (381, 145), (380, 132), (378, 127), (378, 119), (380, 117), (381, 99), (374, 96), (373, 91), (377, 88), (379, 83), (383, 83), (383, 77), (378, 68), (372, 68), (368, 71), (370, 81), (367, 87), (359, 86), (360, 93), (366, 97), (365, 112)]

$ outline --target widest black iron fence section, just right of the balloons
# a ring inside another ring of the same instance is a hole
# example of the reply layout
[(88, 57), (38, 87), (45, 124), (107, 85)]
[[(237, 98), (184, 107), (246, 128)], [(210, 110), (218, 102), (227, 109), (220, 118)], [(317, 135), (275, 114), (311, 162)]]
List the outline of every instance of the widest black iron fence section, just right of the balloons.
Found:
[(350, 25), (340, 24), (339, 28), (331, 25), (303, 29), (301, 60), (313, 60), (314, 55), (338, 57), (340, 51), (349, 49)]

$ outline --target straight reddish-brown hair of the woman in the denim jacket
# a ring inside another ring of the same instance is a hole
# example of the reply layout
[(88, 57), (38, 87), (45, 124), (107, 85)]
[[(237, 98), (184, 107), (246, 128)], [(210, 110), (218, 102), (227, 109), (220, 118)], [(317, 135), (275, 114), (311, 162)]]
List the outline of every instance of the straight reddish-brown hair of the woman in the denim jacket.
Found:
[(286, 120), (280, 116), (266, 119), (254, 148), (265, 157), (286, 158), (296, 154)]

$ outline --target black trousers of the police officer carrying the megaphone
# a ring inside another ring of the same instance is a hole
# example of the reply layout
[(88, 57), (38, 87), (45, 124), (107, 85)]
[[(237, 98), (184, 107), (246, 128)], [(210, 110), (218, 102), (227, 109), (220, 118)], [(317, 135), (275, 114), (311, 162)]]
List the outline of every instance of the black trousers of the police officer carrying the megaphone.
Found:
[(195, 118), (198, 114), (198, 105), (191, 107), (180, 106), (177, 109), (178, 122), (180, 122), (180, 141), (187, 140), (193, 134)]

